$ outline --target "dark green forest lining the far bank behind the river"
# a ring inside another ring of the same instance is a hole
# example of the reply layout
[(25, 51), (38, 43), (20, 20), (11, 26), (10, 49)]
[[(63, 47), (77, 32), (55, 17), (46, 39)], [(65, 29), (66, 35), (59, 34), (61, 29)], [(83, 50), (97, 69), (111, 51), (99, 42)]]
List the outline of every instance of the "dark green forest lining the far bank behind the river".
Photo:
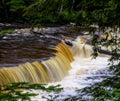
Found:
[(0, 21), (119, 26), (119, 0), (1, 0)]

